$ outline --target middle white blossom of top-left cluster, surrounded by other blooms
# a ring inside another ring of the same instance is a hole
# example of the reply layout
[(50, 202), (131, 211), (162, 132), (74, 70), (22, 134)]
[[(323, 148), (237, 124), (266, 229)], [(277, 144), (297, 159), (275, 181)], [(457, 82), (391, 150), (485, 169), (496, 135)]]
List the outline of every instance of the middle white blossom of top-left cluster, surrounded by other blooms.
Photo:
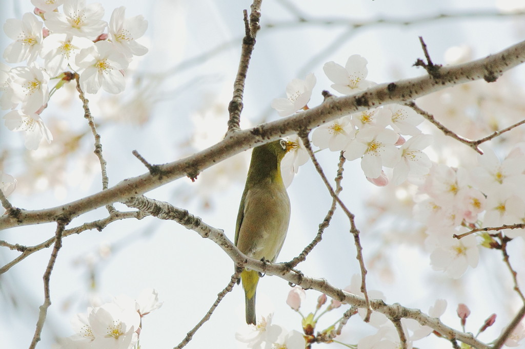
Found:
[(44, 58), (46, 71), (52, 77), (68, 69), (77, 71), (79, 68), (75, 62), (77, 54), (81, 49), (93, 46), (93, 41), (68, 34), (51, 34), (44, 39), (40, 56)]

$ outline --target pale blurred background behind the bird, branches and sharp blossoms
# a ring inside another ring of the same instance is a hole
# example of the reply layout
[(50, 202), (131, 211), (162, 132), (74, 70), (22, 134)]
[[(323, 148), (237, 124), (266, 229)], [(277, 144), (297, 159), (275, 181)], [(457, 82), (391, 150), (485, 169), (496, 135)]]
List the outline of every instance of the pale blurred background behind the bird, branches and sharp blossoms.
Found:
[[(114, 0), (101, 3), (107, 21), (113, 9), (122, 5)], [(88, 95), (102, 136), (110, 186), (146, 172), (131, 154), (134, 149), (150, 163), (164, 163), (204, 149), (224, 136), (244, 33), (243, 9), (249, 10), (250, 4), (246, 0), (125, 4), (127, 17), (142, 14), (148, 20), (149, 28), (139, 42), (149, 52), (134, 58), (123, 93), (101, 91)], [(29, 0), (4, 0), (1, 6), (2, 23), (33, 11)], [(377, 83), (425, 73), (413, 67), (417, 58), (424, 57), (418, 36), (424, 38), (434, 63), (486, 57), (523, 40), (523, 10), (522, 1), (510, 0), (443, 0), (424, 5), (414, 0), (266, 0), (246, 79), (241, 127), (279, 118), (270, 107), (271, 100), (285, 95), (291, 79), (304, 79), (310, 72), (316, 75), (317, 85), (309, 105), (318, 105), (321, 91), (330, 90), (331, 85), (322, 71), (323, 64), (335, 61), (344, 66), (351, 54), (361, 54), (368, 60), (367, 79)], [(512, 11), (521, 12), (506, 15)], [(4, 33), (0, 38), (3, 51), (9, 41)], [(523, 101), (523, 73), (524, 68), (518, 67), (505, 76), (505, 91), (512, 93), (505, 97), (516, 104)], [(438, 103), (427, 101), (429, 109), (433, 104)], [(9, 200), (28, 210), (64, 204), (101, 190), (93, 138), (74, 84), (53, 95), (42, 117), (55, 140), (36, 151), (24, 148), (21, 134), (0, 127), (0, 169), (18, 181)], [(434, 132), (430, 126), (424, 127)], [(459, 149), (457, 154), (440, 152), (439, 146), (437, 150), (429, 149), (428, 154), (445, 162), (460, 161), (458, 154), (475, 159), (475, 153), (467, 147), (450, 145), (450, 149), (454, 147)], [(325, 150), (317, 155), (333, 180), (339, 154)], [(444, 159), (447, 156), (450, 158)], [(248, 161), (249, 151), (205, 170), (194, 183), (183, 178), (146, 195), (189, 210), (204, 222), (224, 229), (233, 240)], [(519, 302), (499, 252), (483, 250), (476, 269), (469, 269), (459, 280), (449, 279), (430, 268), (428, 252), (422, 246), (424, 237), (417, 224), (409, 220), (411, 205), (403, 203), (410, 193), (408, 189), (375, 187), (366, 181), (359, 161), (346, 163), (342, 186), (341, 197), (356, 214), (361, 230), (370, 271), (369, 289), (381, 290), (388, 303), (398, 302), (424, 312), (436, 299), (444, 298), (448, 307), (441, 319), (457, 329), (457, 304), (466, 303), (472, 311), (467, 331), (474, 333), (490, 314), (497, 313), (496, 324), (479, 339), (490, 341), (500, 333)], [(311, 242), (331, 204), (311, 162), (300, 168), (288, 192), (291, 222), (278, 261), (292, 259)], [(120, 204), (116, 207), (129, 210)], [(392, 211), (394, 208), (397, 211)], [(384, 215), (384, 211), (393, 214)], [(101, 208), (81, 215), (69, 227), (106, 215), (106, 209)], [(52, 237), (54, 231), (54, 224), (18, 227), (0, 232), (0, 239), (32, 246)], [(523, 239), (515, 240), (509, 254), (521, 272), (518, 275), (523, 285), (525, 244)], [(44, 300), (42, 276), (50, 252), (48, 248), (34, 253), (0, 275), (0, 337), (4, 347), (27, 347), (33, 337), (38, 307)], [(348, 219), (338, 210), (322, 242), (298, 268), (305, 275), (323, 277), (335, 286), (345, 287), (359, 272), (355, 255)], [(1, 248), (0, 264), (17, 256), (17, 252)], [(102, 232), (68, 236), (51, 275), (53, 304), (38, 347), (50, 347), (57, 337), (71, 335), (70, 319), (86, 312), (92, 302), (100, 304), (122, 293), (137, 297), (149, 287), (159, 291), (164, 304), (143, 319), (141, 347), (173, 347), (203, 317), (232, 273), (232, 261), (213, 242), (175, 222), (153, 217), (118, 221)], [(257, 291), (258, 315), (275, 312), (274, 323), (301, 331), (300, 316), (286, 305), (289, 289), (277, 277), (262, 278)], [(319, 292), (307, 291), (301, 308), (304, 314), (314, 310), (318, 296)], [(243, 299), (244, 292), (235, 287), (187, 347), (243, 347), (235, 340), (235, 332), (246, 326)], [(337, 321), (345, 309), (324, 315), (317, 330)], [(375, 332), (372, 326), (353, 317), (339, 341), (356, 344)], [(437, 348), (448, 344), (431, 335), (416, 345)]]

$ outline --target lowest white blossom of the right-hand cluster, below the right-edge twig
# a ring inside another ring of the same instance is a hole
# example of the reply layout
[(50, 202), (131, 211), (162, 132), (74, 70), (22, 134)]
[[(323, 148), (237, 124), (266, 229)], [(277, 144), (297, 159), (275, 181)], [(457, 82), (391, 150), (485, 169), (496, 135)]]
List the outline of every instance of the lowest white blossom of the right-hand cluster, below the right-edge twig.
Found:
[(479, 260), (478, 242), (474, 235), (467, 235), (461, 239), (453, 234), (465, 232), (445, 230), (429, 235), (425, 244), (432, 249), (430, 264), (434, 270), (443, 270), (454, 279), (460, 278), (467, 268), (477, 267)]

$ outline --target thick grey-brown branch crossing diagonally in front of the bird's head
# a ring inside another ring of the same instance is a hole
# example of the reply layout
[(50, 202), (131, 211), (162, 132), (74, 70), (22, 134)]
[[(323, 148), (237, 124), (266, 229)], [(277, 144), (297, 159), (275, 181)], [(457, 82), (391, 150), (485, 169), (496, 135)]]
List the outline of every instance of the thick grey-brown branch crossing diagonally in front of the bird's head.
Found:
[(16, 210), (0, 217), (0, 230), (35, 223), (72, 219), (82, 213), (127, 198), (141, 195), (181, 177), (196, 178), (208, 167), (241, 151), (279, 137), (295, 134), (299, 129), (312, 129), (335, 118), (380, 105), (400, 103), (442, 90), (457, 84), (485, 79), (493, 81), (503, 72), (525, 61), (525, 41), (499, 53), (476, 61), (440, 68), (440, 77), (424, 75), (374, 86), (354, 95), (331, 97), (321, 105), (278, 121), (239, 130), (222, 141), (186, 158), (159, 165), (159, 173), (144, 173), (118, 183), (107, 190), (86, 198), (44, 210)]

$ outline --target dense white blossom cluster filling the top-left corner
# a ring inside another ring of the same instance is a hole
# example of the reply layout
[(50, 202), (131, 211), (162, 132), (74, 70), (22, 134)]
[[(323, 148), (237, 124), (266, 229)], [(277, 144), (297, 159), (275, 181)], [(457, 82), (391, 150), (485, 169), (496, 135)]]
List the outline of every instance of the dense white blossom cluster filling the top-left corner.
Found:
[[(0, 65), (0, 107), (11, 110), (4, 116), (7, 128), (24, 132), (26, 148), (35, 150), (41, 140), (53, 140), (40, 114), (53, 92), (74, 73), (79, 74), (83, 92), (124, 90), (124, 70), (133, 56), (148, 51), (135, 41), (148, 23), (140, 15), (125, 18), (124, 6), (116, 8), (107, 23), (102, 19), (104, 8), (98, 3), (31, 3), (36, 6), (34, 13), (25, 13), (22, 19), (7, 19), (4, 24), (6, 35), (13, 40), (4, 50), (5, 61), (26, 64), (14, 68)], [(52, 79), (58, 82), (50, 89)]]

